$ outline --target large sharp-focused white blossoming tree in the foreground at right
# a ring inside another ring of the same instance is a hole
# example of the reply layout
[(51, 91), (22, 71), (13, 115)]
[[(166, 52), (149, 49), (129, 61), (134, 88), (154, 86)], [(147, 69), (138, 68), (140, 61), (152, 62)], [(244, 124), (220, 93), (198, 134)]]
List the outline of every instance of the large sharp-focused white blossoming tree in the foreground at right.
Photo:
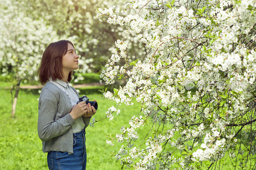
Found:
[[(114, 92), (103, 90), (106, 98), (141, 103), (129, 126), (107, 140), (124, 143), (115, 154), (122, 168), (221, 168), (227, 157), (234, 169), (256, 168), (255, 9), (252, 0), (132, 0), (96, 11), (99, 20), (127, 25), (125, 33), (148, 49), (144, 60), (118, 65), (129, 40), (117, 40), (100, 72), (107, 84), (129, 78)], [(152, 135), (140, 136), (142, 126)], [(145, 146), (133, 147), (139, 137)]]

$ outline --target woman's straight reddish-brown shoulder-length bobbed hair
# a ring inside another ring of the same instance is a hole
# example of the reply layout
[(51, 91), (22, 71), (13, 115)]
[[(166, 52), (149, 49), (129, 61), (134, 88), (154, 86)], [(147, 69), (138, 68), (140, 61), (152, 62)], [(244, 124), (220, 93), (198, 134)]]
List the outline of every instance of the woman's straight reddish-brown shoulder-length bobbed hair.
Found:
[[(57, 78), (62, 79), (64, 77), (62, 71), (62, 57), (68, 51), (68, 43), (74, 47), (71, 41), (60, 40), (52, 42), (44, 50), (40, 66), (37, 70), (37, 77), (39, 77), (39, 81), (42, 85), (51, 77), (52, 80), (56, 80)], [(73, 74), (73, 70), (69, 72), (68, 82), (72, 80)]]

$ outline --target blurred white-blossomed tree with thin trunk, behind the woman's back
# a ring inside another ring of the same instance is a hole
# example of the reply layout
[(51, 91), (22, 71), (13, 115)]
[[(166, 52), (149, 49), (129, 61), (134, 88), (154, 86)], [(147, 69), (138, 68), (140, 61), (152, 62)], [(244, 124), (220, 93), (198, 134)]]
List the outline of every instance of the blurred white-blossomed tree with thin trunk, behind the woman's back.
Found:
[(43, 20), (26, 16), (23, 11), (26, 9), (25, 2), (1, 0), (0, 4), (0, 65), (3, 75), (8, 74), (13, 79), (11, 94), (14, 90), (14, 116), (20, 82), (36, 78), (43, 50), (58, 36)]

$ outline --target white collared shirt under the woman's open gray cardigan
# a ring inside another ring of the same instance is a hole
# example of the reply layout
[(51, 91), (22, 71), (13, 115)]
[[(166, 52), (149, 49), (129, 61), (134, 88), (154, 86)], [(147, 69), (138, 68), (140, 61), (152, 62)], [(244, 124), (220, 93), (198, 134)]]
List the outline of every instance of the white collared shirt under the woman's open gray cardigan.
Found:
[[(64, 81), (57, 78), (55, 81), (52, 78), (49, 78), (49, 81), (55, 85), (57, 85), (63, 92), (65, 92), (68, 97), (70, 98), (71, 104), (74, 106), (76, 102), (79, 100), (76, 92), (69, 86), (68, 81), (65, 83)], [(75, 124), (72, 126), (73, 133), (80, 132), (84, 129), (84, 121), (82, 117), (79, 117), (75, 120)]]

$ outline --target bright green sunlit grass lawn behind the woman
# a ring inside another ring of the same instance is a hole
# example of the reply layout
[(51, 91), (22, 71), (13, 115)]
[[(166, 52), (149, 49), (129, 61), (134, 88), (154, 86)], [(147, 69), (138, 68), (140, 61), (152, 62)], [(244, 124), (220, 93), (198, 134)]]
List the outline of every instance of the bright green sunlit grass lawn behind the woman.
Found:
[[(1, 87), (4, 85), (6, 85), (6, 82), (0, 83)], [(90, 100), (97, 100), (99, 108), (95, 115), (96, 120), (105, 117), (105, 112), (108, 108), (112, 105), (115, 106), (114, 101), (101, 97), (98, 91), (99, 88), (101, 87), (95, 86), (79, 89), (80, 96), (87, 95)], [(2, 125), (0, 130), (0, 169), (48, 169), (46, 161), (47, 154), (42, 152), (42, 142), (37, 135), (38, 90), (20, 90), (16, 107), (16, 117), (14, 119), (11, 118), (12, 106), (10, 90), (2, 88), (0, 89), (0, 95), (0, 123)], [(111, 159), (110, 153), (113, 151), (117, 153), (122, 143), (114, 142), (115, 145), (110, 146), (106, 144), (106, 139), (108, 138), (105, 137), (105, 135), (120, 133), (120, 128), (124, 125), (128, 126), (132, 115), (139, 114), (140, 105), (134, 101), (133, 106), (121, 105), (118, 108), (121, 110), (121, 113), (119, 115), (115, 114), (112, 121), (106, 118), (100, 122), (96, 122), (94, 124), (95, 127), (88, 126), (86, 129), (86, 167), (88, 170), (121, 169), (120, 160), (116, 161), (115, 159)], [(151, 127), (152, 122), (149, 126), (139, 129), (138, 133), (142, 135), (134, 146), (138, 148)], [(165, 126), (165, 128), (170, 127), (171, 125)], [(162, 128), (160, 127), (159, 129)], [(151, 133), (152, 132), (153, 130)], [(151, 133), (149, 133), (150, 136)], [(173, 138), (177, 137), (178, 135)], [(143, 144), (142, 148), (145, 148)], [(173, 148), (167, 146), (166, 150), (172, 151)], [(176, 152), (174, 156), (180, 157), (180, 153)], [(207, 169), (207, 166), (210, 164), (210, 162), (207, 162), (204, 164), (204, 167), (200, 169)], [(229, 166), (231, 164), (229, 157), (221, 161), (220, 169), (223, 164), (222, 169), (234, 169), (233, 166)]]

